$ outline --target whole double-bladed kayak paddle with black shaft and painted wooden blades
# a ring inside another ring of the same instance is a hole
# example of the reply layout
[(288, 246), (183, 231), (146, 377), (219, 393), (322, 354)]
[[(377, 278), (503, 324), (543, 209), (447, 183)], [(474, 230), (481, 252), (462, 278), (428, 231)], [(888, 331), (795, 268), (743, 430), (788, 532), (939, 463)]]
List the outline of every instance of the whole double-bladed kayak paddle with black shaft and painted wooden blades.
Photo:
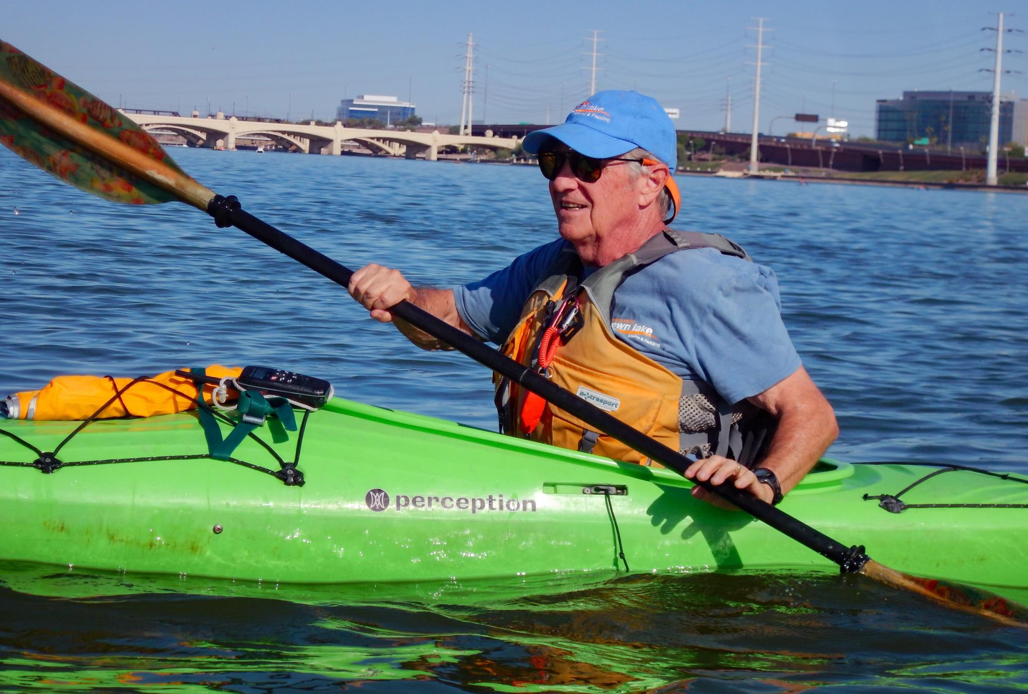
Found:
[[(235, 197), (216, 195), (179, 168), (149, 133), (118, 111), (3, 41), (0, 142), (94, 195), (128, 204), (185, 202), (211, 215), (219, 227), (236, 227), (341, 286), (350, 282), (351, 270), (244, 211)], [(693, 462), (413, 304), (401, 302), (390, 311), (680, 474)], [(842, 545), (731, 485), (697, 484), (832, 560), (843, 572), (861, 573), (1007, 624), (1028, 625), (1028, 610), (1003, 597), (903, 574), (869, 558), (862, 546)]]

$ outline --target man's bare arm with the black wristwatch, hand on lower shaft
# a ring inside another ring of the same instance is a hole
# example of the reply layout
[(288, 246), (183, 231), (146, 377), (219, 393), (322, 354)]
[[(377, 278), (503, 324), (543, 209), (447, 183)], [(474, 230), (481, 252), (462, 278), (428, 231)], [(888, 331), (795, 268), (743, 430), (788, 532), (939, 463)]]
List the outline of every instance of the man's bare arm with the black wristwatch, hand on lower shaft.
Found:
[[(803, 367), (747, 399), (778, 420), (767, 456), (758, 467), (774, 472), (785, 494), (803, 479), (839, 435), (835, 412)], [(686, 471), (686, 476), (714, 485), (734, 479), (737, 489), (769, 503), (774, 496), (771, 488), (759, 481), (752, 471), (721, 456), (697, 461)], [(735, 508), (701, 487), (693, 489), (693, 496), (723, 508)]]

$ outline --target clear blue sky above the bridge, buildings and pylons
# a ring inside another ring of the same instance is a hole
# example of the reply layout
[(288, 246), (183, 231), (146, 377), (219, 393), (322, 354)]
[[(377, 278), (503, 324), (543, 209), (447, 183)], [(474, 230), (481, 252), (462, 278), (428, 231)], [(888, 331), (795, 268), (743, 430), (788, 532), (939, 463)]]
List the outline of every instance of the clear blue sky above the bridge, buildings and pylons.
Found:
[[(334, 118), (345, 93), (392, 94), (428, 121), (461, 114), (464, 42), (474, 34), (475, 117), (550, 121), (587, 97), (593, 30), (597, 88), (636, 88), (677, 107), (678, 128), (749, 131), (756, 32), (767, 17), (761, 129), (775, 116), (833, 110), (874, 134), (876, 99), (905, 89), (992, 88), (995, 11), (963, 0), (830, 3), (531, 0), (465, 2), (8, 1), (0, 38), (109, 103), (189, 111)], [(1028, 30), (1028, 12), (1007, 17)], [(1004, 47), (1028, 51), (1028, 34)], [(486, 68), (486, 66), (488, 66)], [(1004, 69), (1028, 73), (1028, 52)], [(487, 74), (486, 74), (487, 73)], [(1028, 95), (1026, 75), (1003, 90)], [(774, 132), (794, 128), (779, 120)]]

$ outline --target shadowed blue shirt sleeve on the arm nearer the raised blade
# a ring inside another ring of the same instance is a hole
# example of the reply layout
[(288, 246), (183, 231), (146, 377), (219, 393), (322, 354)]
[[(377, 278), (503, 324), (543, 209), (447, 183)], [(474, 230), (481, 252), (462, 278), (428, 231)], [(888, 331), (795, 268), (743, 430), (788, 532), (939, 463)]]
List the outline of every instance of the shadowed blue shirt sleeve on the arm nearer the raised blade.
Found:
[(461, 318), (489, 342), (502, 344), (514, 330), (531, 291), (542, 280), (567, 242), (557, 239), (518, 256), (502, 270), (453, 288)]

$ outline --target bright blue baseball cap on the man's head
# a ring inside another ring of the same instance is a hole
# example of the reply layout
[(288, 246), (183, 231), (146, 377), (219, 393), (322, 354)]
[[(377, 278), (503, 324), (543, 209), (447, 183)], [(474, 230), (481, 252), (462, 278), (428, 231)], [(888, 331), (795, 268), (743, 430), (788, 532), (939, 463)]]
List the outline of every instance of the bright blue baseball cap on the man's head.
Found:
[(521, 146), (538, 154), (549, 138), (597, 159), (641, 147), (672, 172), (678, 162), (674, 124), (656, 99), (637, 91), (597, 91), (576, 106), (563, 123), (529, 132)]

